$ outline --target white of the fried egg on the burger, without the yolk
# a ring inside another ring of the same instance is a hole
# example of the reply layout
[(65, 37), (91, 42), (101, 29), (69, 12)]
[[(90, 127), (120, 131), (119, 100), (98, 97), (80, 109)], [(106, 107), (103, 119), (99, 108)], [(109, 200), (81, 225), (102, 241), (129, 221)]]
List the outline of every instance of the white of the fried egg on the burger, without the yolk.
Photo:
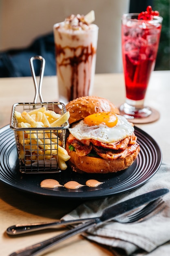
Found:
[(132, 135), (134, 132), (132, 123), (128, 122), (128, 120), (121, 115), (117, 115), (117, 117), (118, 121), (114, 127), (108, 127), (104, 124), (88, 126), (84, 123), (84, 120), (81, 120), (68, 130), (79, 140), (95, 139), (106, 144), (117, 142)]

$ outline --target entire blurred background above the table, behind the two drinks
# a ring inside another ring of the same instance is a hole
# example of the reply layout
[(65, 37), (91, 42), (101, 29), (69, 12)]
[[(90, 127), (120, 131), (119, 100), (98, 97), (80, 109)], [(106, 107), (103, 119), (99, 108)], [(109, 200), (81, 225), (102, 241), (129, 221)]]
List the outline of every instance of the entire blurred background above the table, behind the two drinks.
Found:
[(92, 9), (99, 27), (96, 73), (122, 72), (121, 16), (148, 5), (163, 17), (155, 70), (170, 70), (170, 0), (0, 0), (0, 77), (31, 76), (35, 55), (46, 60), (44, 75), (55, 75), (53, 25)]

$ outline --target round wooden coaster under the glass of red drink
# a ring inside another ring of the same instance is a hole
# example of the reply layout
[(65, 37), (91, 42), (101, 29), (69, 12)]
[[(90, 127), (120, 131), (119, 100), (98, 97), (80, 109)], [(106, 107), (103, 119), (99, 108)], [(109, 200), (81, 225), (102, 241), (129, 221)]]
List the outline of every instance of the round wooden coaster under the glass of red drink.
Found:
[(133, 124), (148, 124), (157, 121), (160, 117), (159, 112), (154, 108), (150, 108), (150, 110), (152, 110), (150, 116), (144, 118), (128, 119), (128, 121), (132, 122)]

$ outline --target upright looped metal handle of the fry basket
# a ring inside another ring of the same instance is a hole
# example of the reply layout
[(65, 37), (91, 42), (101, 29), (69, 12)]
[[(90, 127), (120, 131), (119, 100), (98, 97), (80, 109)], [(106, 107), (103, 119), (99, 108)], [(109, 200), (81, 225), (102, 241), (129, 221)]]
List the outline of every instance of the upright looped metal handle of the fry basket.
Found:
[[(37, 84), (37, 79), (36, 79), (36, 76), (35, 76), (35, 70), (34, 70), (34, 65), (33, 65), (34, 60), (40, 60), (41, 61), (39, 86)], [(42, 88), (42, 79), (43, 79), (43, 76), (44, 76), (45, 59), (42, 56), (33, 56), (33, 57), (30, 58), (30, 66), (31, 66), (31, 72), (32, 72), (33, 81), (34, 81), (34, 85), (35, 85), (35, 97), (34, 97), (33, 102), (37, 103), (37, 99), (38, 99), (38, 95), (39, 95), (40, 101), (43, 103), (44, 101), (42, 99), (41, 88)]]

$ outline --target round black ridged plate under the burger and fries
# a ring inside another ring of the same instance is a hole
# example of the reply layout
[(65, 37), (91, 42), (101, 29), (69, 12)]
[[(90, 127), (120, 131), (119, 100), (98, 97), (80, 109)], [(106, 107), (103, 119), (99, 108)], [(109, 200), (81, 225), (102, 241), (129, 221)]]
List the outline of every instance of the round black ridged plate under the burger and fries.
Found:
[[(61, 199), (94, 199), (121, 193), (144, 184), (159, 169), (162, 153), (157, 142), (143, 130), (135, 127), (140, 153), (128, 169), (110, 174), (78, 174), (71, 170), (53, 174), (21, 174), (15, 146), (13, 130), (9, 126), (0, 129), (0, 180), (15, 189), (24, 192), (45, 195)], [(76, 190), (59, 187), (43, 189), (40, 182), (44, 179), (55, 179), (64, 184), (75, 180), (85, 184), (86, 180), (95, 179), (103, 184), (96, 188), (83, 186)]]

